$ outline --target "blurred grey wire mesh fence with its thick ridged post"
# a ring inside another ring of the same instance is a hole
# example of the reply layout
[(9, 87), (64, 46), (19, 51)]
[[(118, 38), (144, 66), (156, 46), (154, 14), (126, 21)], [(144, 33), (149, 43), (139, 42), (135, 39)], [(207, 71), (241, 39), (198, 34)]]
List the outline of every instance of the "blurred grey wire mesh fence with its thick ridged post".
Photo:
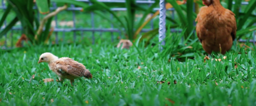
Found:
[[(86, 2), (86, 3), (91, 5), (89, 0), (76, 0), (76, 1)], [(97, 1), (100, 1), (100, 2), (113, 2), (113, 3), (114, 2), (125, 3), (125, 0), (97, 0)], [(165, 26), (165, 13), (166, 13), (166, 9), (165, 9), (165, 6), (164, 6), (165, 5), (164, 1), (165, 0), (160, 0), (160, 3), (159, 3), (159, 5), (160, 5), (159, 7), (160, 8), (153, 8), (154, 11), (160, 10), (160, 16), (159, 16), (159, 18), (160, 18), (159, 19), (160, 20), (159, 21), (159, 27), (160, 27), (159, 28), (159, 41), (164, 39), (164, 37), (165, 37), (164, 34), (165, 34), (165, 31), (166, 31), (165, 27), (163, 27), (163, 26)], [(146, 4), (148, 6), (151, 6), (153, 3), (155, 3), (155, 1), (154, 0), (136, 0), (136, 3), (137, 4)], [(235, 2), (233, 2), (233, 4), (235, 4)], [(248, 2), (242, 2), (242, 5), (248, 5)], [(58, 8), (57, 4), (55, 2), (52, 2), (52, 7), (50, 7), (50, 11), (56, 10), (57, 8)], [(1, 1), (0, 9), (2, 9), (2, 10), (6, 9), (6, 5), (5, 5), (4, 0)], [(37, 10), (37, 7), (34, 6), (33, 9)], [(72, 28), (61, 28), (61, 27), (59, 27), (58, 26), (58, 23), (59, 23), (58, 17), (59, 17), (59, 15), (54, 16), (54, 21), (53, 22), (55, 23), (55, 26), (54, 26), (54, 31), (53, 32), (54, 32), (54, 35), (55, 35), (55, 43), (56, 44), (59, 43), (59, 40), (60, 40), (60, 38), (59, 38), (60, 36), (59, 35), (62, 33), (61, 36), (62, 36), (62, 38), (64, 38), (66, 36), (65, 34), (67, 32), (69, 32), (69, 33), (73, 32), (72, 35), (73, 35), (73, 39), (74, 40), (77, 39), (77, 36), (78, 36), (77, 32), (80, 32), (81, 36), (84, 36), (85, 32), (91, 32), (91, 34), (92, 34), (91, 35), (92, 44), (95, 43), (95, 33), (96, 32), (100, 32), (100, 36), (104, 32), (110, 32), (111, 33), (110, 39), (111, 39), (112, 42), (114, 41), (114, 37), (116, 37), (116, 36), (119, 36), (119, 39), (121, 39), (121, 37), (123, 35), (121, 35), (121, 32), (117, 28), (113, 27), (113, 24), (111, 24), (111, 28), (97, 28), (97, 27), (95, 27), (95, 20), (94, 20), (95, 19), (95, 14), (94, 14), (94, 12), (90, 12), (90, 18), (91, 18), (90, 24), (91, 24), (91, 27), (82, 27), (82, 28), (81, 27), (77, 27), (77, 25), (76, 25), (77, 23), (75, 21), (75, 19), (76, 19), (76, 11), (80, 11), (81, 9), (82, 9), (81, 7), (75, 7), (74, 5), (70, 5), (66, 9), (66, 11), (71, 11), (72, 12), (72, 14), (71, 14), (72, 15), (72, 20), (73, 20)], [(126, 8), (118, 7), (118, 8), (111, 8), (111, 10), (112, 11), (126, 11), (127, 9)], [(175, 9), (174, 8), (170, 8), (167, 11), (171, 11), (171, 16), (174, 19), (174, 15), (175, 15), (174, 11), (175, 11)], [(37, 12), (38, 12), (37, 14), (39, 15), (39, 11), (38, 10), (37, 10)], [(38, 18), (39, 18), (39, 16), (38, 16)], [(113, 19), (112, 14), (110, 14), (110, 18)], [(3, 30), (6, 27), (6, 24), (7, 24), (7, 22), (5, 21), (4, 25), (1, 26), (1, 30)], [(150, 20), (150, 28), (144, 28), (144, 29), (142, 29), (141, 32), (148, 32), (150, 30), (153, 30), (154, 27), (156, 27), (156, 26), (154, 26), (153, 20)], [(162, 29), (162, 28), (164, 28), (164, 29)], [(14, 42), (14, 40), (13, 40), (13, 33), (15, 31), (17, 32), (17, 31), (19, 31), (21, 29), (22, 29), (21, 27), (13, 27), (11, 29), (11, 31), (9, 32), (9, 34), (8, 34), (10, 40), (7, 40), (7, 34), (4, 35), (4, 37), (2, 37), (2, 40), (4, 40), (4, 43), (3, 44), (0, 43), (0, 47), (2, 49), (14, 47), (14, 45), (13, 45), (13, 42)], [(174, 31), (177, 31), (177, 30), (171, 30), (171, 31), (174, 32)], [(118, 34), (114, 35), (113, 33), (118, 33)], [(21, 33), (20, 33), (20, 35), (21, 35)], [(254, 32), (254, 35), (255, 35), (255, 32)], [(246, 42), (247, 40), (241, 40), (240, 39), (239, 41)], [(11, 44), (10, 46), (7, 46), (8, 42), (10, 42), (10, 44)], [(255, 36), (253, 36), (253, 39), (250, 40), (250, 42), (254, 42), (255, 43)], [(164, 42), (162, 43), (162, 45), (164, 45)]]

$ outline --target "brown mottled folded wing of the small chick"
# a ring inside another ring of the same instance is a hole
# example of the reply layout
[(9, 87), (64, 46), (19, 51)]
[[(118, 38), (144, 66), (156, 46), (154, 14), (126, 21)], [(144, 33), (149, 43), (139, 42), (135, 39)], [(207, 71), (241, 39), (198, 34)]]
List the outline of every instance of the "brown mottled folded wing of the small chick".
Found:
[(59, 60), (56, 61), (56, 67), (58, 70), (75, 77), (84, 76), (84, 72), (86, 71), (84, 65), (68, 57), (59, 58)]

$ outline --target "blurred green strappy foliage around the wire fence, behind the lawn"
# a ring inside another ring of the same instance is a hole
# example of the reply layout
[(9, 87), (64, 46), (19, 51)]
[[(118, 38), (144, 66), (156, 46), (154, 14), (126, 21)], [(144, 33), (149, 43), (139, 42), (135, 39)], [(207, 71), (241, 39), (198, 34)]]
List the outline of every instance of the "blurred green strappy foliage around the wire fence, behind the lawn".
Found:
[[(0, 10), (2, 11), (0, 25), (3, 26), (5, 20), (7, 21), (7, 25), (4, 30), (0, 31), (1, 42), (5, 34), (7, 34), (7, 39), (10, 38), (8, 33), (12, 27), (20, 25), (22, 27), (22, 36), (25, 38), (20, 37), (20, 33), (14, 33), (16, 34), (14, 37), (18, 39), (16, 42), (17, 47), (20, 47), (20, 42), (18, 42), (20, 40), (28, 41), (27, 44), (31, 45), (54, 43), (54, 39), (57, 39), (57, 36), (62, 34), (59, 33), (56, 36), (51, 36), (53, 29), (56, 26), (60, 28), (72, 28), (72, 24), (59, 25), (60, 23), (57, 23), (54, 26), (53, 18), (59, 14), (61, 17), (57, 17), (57, 20), (72, 19), (71, 14), (74, 12), (63, 11), (72, 4), (76, 7), (83, 8), (81, 11), (75, 11), (76, 20), (73, 23), (76, 23), (76, 27), (78, 28), (91, 28), (90, 12), (94, 12), (96, 14), (94, 16), (95, 28), (110, 28), (111, 24), (113, 24), (114, 28), (118, 28), (121, 31), (122, 39), (129, 39), (132, 42), (138, 43), (144, 42), (143, 45), (145, 47), (158, 44), (159, 11), (154, 11), (153, 8), (159, 7), (159, 0), (155, 0), (155, 3), (151, 6), (148, 6), (148, 4), (136, 4), (136, 0), (126, 0), (125, 3), (98, 2), (97, 0), (89, 1), (91, 5), (76, 0), (5, 0), (7, 9), (5, 11)], [(236, 39), (251, 39), (252, 32), (256, 30), (256, 26), (254, 25), (256, 22), (256, 0), (247, 1), (249, 1), (248, 5), (241, 5), (241, 2), (244, 2), (244, 0), (221, 0), (222, 5), (233, 11), (236, 15), (238, 25)], [(49, 7), (53, 6), (53, 2), (56, 3), (58, 9), (50, 11)], [(33, 10), (33, 6), (36, 5), (38, 10)], [(198, 38), (194, 31), (196, 25), (195, 19), (199, 8), (202, 6), (202, 0), (166, 0), (166, 9), (175, 9), (174, 16), (171, 16), (172, 11), (166, 11), (166, 45), (174, 45), (176, 43), (179, 46), (179, 48), (176, 46), (173, 46), (174, 48), (166, 48), (172, 50), (167, 54), (171, 53), (175, 57), (180, 57), (183, 54), (182, 56), (190, 57), (193, 55), (192, 52), (202, 50), (201, 44), (197, 42)], [(127, 11), (111, 11), (113, 7), (126, 7)], [(37, 11), (39, 11), (39, 14)], [(113, 16), (113, 19), (109, 18), (110, 15)], [(151, 28), (150, 20), (153, 20), (153, 30), (142, 33), (141, 30), (143, 28)], [(179, 30), (182, 31), (179, 32)], [(60, 41), (77, 43), (75, 40), (70, 41), (73, 32), (62, 33), (65, 35), (65, 39), (64, 36), (60, 37)], [(78, 42), (84, 44), (90, 44), (92, 42), (90, 38), (91, 32), (85, 32), (83, 34), (81, 32), (74, 33), (78, 35)], [(97, 39), (107, 41), (110, 38), (110, 33), (104, 33), (103, 36), (99, 33), (96, 33), (96, 35), (99, 35), (96, 37), (96, 43), (99, 43)], [(114, 34), (114, 36), (116, 39), (115, 43), (117, 43), (119, 36), (118, 34)], [(83, 37), (87, 39), (80, 39)]]

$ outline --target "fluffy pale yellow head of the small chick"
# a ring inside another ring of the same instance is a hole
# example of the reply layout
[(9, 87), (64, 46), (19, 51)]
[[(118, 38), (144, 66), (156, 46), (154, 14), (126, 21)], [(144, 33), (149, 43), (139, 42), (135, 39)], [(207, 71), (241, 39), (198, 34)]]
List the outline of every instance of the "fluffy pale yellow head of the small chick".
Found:
[(55, 55), (53, 55), (52, 53), (43, 53), (41, 54), (41, 56), (39, 57), (39, 60), (38, 60), (38, 64), (41, 63), (41, 62), (46, 62), (46, 63), (50, 63), (50, 61), (55, 61), (55, 60), (58, 60), (59, 58)]

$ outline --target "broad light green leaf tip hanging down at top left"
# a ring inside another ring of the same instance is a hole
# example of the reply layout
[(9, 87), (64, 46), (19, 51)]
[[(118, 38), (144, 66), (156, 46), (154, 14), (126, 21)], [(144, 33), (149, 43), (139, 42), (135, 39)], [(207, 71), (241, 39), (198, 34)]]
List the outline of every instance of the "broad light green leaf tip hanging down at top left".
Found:
[(36, 0), (36, 4), (41, 14), (49, 13), (49, 6), (47, 0)]

